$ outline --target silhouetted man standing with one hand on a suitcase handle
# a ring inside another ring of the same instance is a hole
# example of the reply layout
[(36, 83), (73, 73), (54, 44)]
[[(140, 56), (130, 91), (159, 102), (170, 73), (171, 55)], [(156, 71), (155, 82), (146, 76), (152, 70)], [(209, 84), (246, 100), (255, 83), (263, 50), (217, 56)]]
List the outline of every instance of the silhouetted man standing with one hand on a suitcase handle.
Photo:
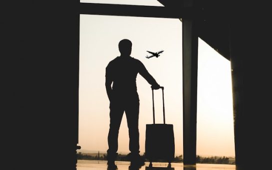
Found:
[[(116, 169), (115, 158), (118, 155), (118, 133), (125, 111), (129, 129), (130, 166), (144, 165), (139, 154), (139, 96), (136, 87), (136, 76), (142, 75), (153, 89), (160, 85), (150, 75), (144, 64), (131, 54), (132, 42), (122, 39), (119, 44), (120, 56), (111, 60), (106, 67), (106, 91), (110, 100), (110, 128), (108, 133), (107, 164), (108, 169)], [(111, 86), (112, 84), (112, 86)]]

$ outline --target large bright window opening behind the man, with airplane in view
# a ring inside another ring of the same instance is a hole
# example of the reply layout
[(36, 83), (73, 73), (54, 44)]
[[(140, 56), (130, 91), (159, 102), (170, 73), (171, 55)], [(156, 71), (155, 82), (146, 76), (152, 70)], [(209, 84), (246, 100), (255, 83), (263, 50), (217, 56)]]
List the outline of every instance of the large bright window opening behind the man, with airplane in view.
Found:
[[(109, 100), (105, 89), (105, 68), (120, 55), (121, 39), (132, 41), (131, 56), (139, 59), (149, 73), (164, 86), (166, 123), (174, 125), (175, 153), (183, 154), (182, 133), (182, 22), (179, 19), (80, 15), (79, 49), (79, 145), (78, 152), (104, 158), (108, 148)], [(157, 58), (149, 51), (164, 50)], [(145, 152), (146, 124), (153, 123), (150, 84), (137, 75), (140, 98), (140, 154)], [(156, 90), (156, 123), (163, 123), (161, 91)], [(129, 152), (126, 116), (118, 137), (118, 153)], [(90, 156), (89, 156), (90, 157)]]

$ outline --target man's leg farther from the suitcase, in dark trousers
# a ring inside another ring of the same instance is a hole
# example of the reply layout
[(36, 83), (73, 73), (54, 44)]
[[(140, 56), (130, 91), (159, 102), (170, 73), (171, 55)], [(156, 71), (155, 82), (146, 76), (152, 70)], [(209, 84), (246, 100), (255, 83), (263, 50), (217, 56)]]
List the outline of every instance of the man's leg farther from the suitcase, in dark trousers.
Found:
[(114, 161), (117, 156), (118, 150), (118, 133), (121, 124), (124, 109), (118, 106), (110, 107), (110, 128), (108, 133), (108, 150), (107, 150), (107, 160), (108, 167), (113, 168), (116, 166)]

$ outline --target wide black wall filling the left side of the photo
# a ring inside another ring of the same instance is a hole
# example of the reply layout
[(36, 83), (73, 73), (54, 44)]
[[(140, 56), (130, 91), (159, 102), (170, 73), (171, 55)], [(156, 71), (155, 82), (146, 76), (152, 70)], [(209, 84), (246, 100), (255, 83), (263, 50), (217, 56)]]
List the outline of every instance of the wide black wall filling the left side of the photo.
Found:
[(1, 139), (4, 162), (10, 169), (75, 167), (78, 2), (4, 5)]

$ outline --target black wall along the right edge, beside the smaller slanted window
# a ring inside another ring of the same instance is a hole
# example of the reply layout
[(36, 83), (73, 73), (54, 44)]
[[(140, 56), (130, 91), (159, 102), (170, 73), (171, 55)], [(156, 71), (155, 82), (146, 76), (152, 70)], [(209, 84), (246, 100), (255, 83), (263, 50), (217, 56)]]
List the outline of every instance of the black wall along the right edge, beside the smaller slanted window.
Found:
[(230, 19), (236, 164), (243, 169), (268, 169), (272, 129), (269, 15), (264, 8), (256, 10), (258, 4), (248, 5), (234, 3)]

